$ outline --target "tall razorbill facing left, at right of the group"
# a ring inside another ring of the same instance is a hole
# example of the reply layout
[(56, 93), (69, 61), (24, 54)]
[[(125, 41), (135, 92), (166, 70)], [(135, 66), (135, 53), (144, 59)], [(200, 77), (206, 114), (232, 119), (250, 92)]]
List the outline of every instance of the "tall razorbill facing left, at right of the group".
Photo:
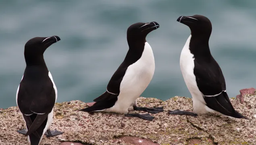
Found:
[[(209, 38), (212, 32), (210, 20), (201, 15), (181, 16), (178, 22), (191, 30), (180, 56), (183, 78), (193, 98), (194, 113), (212, 112), (233, 118), (246, 118), (232, 106), (226, 92), (226, 83), (219, 64), (210, 53)], [(169, 114), (188, 114), (180, 110)]]

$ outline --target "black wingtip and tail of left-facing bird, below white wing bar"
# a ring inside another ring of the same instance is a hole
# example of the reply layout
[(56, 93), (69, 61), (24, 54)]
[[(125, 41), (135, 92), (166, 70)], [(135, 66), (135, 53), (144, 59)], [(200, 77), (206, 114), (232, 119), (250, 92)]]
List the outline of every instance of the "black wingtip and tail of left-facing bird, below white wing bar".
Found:
[(205, 96), (204, 100), (206, 102), (206, 105), (210, 109), (220, 112), (221, 114), (231, 116), (234, 118), (248, 119), (233, 108), (233, 106), (229, 100), (229, 96), (224, 91), (216, 97), (206, 97)]

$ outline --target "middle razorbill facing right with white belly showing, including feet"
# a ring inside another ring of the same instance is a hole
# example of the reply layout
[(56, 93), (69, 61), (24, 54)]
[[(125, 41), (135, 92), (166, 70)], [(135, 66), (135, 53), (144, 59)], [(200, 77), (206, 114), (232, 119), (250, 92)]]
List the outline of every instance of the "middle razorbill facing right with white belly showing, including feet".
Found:
[(94, 99), (93, 106), (82, 109), (84, 112), (117, 112), (129, 117), (139, 117), (153, 120), (150, 114), (127, 114), (129, 106), (134, 110), (149, 113), (163, 112), (162, 107), (137, 107), (136, 99), (148, 87), (155, 70), (155, 61), (152, 48), (146, 41), (151, 31), (159, 28), (156, 22), (135, 23), (127, 29), (129, 50), (123, 63), (110, 79), (106, 91)]

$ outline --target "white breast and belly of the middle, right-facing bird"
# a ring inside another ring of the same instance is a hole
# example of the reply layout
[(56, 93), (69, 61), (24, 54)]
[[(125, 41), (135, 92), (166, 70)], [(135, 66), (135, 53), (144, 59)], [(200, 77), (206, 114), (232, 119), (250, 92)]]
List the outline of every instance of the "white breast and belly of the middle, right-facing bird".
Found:
[(143, 93), (152, 80), (155, 71), (155, 60), (152, 48), (145, 43), (142, 56), (131, 64), (123, 77), (116, 104), (106, 111), (127, 113), (129, 106)]

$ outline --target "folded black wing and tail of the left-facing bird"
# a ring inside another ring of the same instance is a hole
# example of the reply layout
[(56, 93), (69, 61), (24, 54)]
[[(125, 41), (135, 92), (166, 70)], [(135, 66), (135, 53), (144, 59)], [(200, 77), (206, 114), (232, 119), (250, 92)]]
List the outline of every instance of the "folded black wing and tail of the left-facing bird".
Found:
[[(198, 61), (199, 62), (199, 61)], [(226, 83), (219, 64), (210, 59), (210, 62), (194, 60), (194, 74), (199, 90), (204, 95), (206, 106), (227, 116), (245, 118), (232, 106), (226, 93)]]

